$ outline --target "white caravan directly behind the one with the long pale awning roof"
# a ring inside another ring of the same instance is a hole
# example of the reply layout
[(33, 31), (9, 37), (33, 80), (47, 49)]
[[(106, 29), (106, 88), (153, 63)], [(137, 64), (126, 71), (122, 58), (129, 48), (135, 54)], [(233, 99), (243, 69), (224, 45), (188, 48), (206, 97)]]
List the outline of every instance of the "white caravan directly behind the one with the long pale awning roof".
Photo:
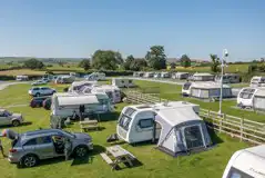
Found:
[(91, 87), (83, 87), (79, 90), (79, 93), (99, 93), (104, 92), (108, 95), (110, 100), (114, 103), (121, 102), (121, 90), (115, 86), (110, 85), (102, 85), (102, 86), (91, 86)]

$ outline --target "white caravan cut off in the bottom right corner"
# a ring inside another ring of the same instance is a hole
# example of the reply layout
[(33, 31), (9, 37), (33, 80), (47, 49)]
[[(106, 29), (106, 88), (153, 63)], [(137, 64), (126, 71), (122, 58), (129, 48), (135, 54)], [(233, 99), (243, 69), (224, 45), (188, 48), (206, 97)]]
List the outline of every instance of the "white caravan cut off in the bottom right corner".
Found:
[(222, 178), (265, 178), (265, 145), (236, 151)]

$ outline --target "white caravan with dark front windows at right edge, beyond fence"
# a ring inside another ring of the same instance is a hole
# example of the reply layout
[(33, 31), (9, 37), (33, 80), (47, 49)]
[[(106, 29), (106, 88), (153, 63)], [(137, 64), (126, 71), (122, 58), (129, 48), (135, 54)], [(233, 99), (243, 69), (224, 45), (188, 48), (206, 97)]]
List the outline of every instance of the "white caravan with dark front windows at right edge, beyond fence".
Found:
[[(265, 90), (264, 88), (246, 87), (241, 89), (237, 96), (237, 106), (241, 108), (253, 108), (253, 100), (256, 92)], [(259, 99), (257, 100), (259, 101)]]

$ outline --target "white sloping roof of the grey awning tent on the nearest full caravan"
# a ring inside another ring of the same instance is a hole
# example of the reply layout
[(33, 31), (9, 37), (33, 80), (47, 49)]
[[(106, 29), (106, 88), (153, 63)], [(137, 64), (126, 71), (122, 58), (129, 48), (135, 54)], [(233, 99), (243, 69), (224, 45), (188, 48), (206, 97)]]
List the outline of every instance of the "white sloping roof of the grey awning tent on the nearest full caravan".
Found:
[(156, 113), (172, 127), (191, 120), (202, 120), (193, 110), (193, 107), (164, 108)]

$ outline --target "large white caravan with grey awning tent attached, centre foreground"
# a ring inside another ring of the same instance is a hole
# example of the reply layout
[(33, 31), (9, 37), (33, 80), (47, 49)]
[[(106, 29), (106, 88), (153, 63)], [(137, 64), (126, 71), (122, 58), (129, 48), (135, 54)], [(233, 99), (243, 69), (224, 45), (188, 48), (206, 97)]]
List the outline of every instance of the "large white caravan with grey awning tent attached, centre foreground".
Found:
[(135, 144), (159, 139), (162, 151), (172, 156), (211, 145), (200, 107), (184, 101), (136, 105), (123, 108), (116, 126), (120, 139)]

